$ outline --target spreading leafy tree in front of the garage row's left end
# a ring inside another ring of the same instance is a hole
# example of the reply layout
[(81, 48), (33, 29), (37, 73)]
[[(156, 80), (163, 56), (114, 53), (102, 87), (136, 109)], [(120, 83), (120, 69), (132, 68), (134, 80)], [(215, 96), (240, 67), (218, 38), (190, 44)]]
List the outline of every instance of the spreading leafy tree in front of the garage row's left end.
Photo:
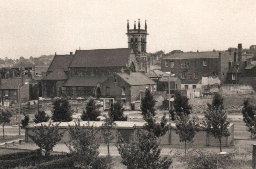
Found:
[(61, 140), (65, 132), (59, 132), (59, 124), (53, 125), (51, 122), (48, 125), (41, 124), (41, 126), (35, 126), (35, 129), (32, 130), (35, 133), (34, 135), (28, 134), (35, 144), (44, 151), (46, 158), (50, 156), (53, 147)]

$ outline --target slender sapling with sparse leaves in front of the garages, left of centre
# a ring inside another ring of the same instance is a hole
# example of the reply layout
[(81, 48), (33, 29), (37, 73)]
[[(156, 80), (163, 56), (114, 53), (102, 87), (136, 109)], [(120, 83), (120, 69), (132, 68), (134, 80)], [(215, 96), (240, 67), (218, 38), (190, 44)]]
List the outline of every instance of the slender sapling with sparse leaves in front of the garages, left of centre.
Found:
[(103, 131), (103, 141), (105, 144), (107, 144), (108, 147), (108, 157), (110, 157), (109, 153), (109, 142), (114, 140), (114, 135), (112, 132), (112, 128), (116, 123), (113, 121), (111, 117), (105, 116), (105, 123), (102, 124), (101, 130)]

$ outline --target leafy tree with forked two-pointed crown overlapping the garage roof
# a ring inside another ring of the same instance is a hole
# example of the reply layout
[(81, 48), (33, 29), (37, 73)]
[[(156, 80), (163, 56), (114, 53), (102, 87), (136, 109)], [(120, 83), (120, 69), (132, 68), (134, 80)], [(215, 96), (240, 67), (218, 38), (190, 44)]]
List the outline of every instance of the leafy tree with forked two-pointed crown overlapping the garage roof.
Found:
[(156, 137), (164, 136), (165, 133), (168, 131), (170, 125), (167, 124), (166, 114), (161, 118), (161, 122), (157, 123), (156, 119), (153, 115), (148, 111), (148, 115), (146, 116), (145, 121), (145, 129), (149, 132), (153, 132)]

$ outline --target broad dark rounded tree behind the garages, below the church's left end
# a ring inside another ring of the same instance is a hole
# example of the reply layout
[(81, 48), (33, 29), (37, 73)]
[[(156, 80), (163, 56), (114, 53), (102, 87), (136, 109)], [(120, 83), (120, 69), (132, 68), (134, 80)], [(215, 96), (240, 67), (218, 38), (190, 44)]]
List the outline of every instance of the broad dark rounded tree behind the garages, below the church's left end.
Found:
[(52, 120), (53, 122), (72, 121), (71, 106), (66, 98), (57, 98), (53, 100)]

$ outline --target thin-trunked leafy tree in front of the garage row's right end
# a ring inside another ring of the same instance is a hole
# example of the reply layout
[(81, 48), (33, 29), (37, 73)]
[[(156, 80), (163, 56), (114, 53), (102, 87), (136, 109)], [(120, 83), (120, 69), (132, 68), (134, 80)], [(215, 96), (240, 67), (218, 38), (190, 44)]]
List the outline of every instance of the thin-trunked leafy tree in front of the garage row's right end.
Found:
[(211, 108), (204, 112), (205, 121), (204, 127), (210, 132), (215, 138), (219, 139), (220, 142), (220, 152), (221, 152), (221, 139), (222, 137), (227, 137), (230, 132), (227, 130), (230, 121), (227, 119), (227, 114), (219, 107), (218, 109)]

